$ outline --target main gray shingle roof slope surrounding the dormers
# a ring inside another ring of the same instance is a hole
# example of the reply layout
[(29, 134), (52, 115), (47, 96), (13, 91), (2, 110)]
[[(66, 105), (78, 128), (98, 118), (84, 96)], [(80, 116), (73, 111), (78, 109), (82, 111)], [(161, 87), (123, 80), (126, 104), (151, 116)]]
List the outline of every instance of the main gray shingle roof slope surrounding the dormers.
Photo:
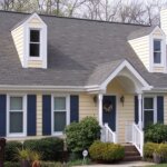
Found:
[(136, 24), (40, 16), (48, 26), (48, 69), (24, 69), (10, 30), (26, 17), (0, 11), (0, 85), (95, 85), (127, 59), (150, 85), (167, 87), (167, 75), (149, 73), (127, 42), (131, 32), (148, 28)]

